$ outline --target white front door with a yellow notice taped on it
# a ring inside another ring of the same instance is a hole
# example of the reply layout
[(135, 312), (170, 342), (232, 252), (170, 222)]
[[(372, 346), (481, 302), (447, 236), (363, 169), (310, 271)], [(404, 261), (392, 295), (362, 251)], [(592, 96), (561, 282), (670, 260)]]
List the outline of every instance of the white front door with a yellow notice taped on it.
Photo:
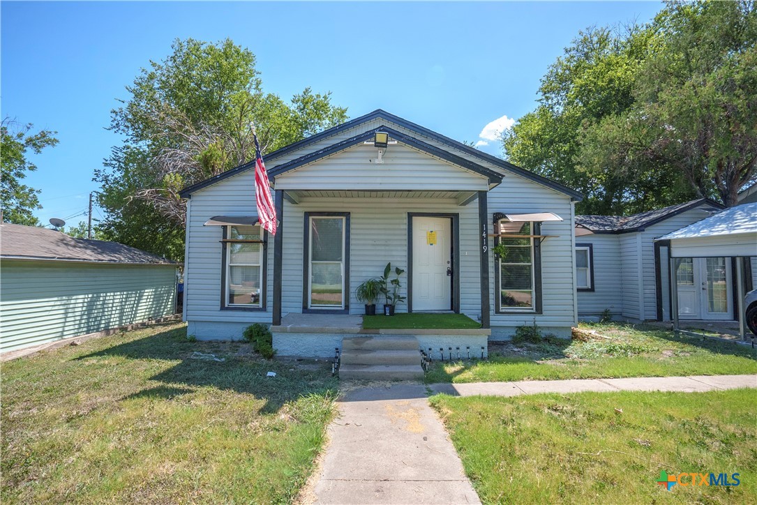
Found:
[(449, 217), (413, 217), (413, 311), (452, 308), (451, 223)]

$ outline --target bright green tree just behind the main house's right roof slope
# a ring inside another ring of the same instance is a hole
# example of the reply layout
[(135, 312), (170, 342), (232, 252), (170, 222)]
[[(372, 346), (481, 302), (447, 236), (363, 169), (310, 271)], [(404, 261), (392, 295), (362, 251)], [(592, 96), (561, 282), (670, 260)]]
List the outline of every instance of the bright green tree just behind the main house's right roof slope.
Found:
[(606, 170), (587, 163), (585, 143), (608, 117), (630, 110), (635, 76), (656, 50), (656, 34), (640, 26), (579, 33), (541, 80), (539, 104), (503, 136), (513, 163), (584, 193), (582, 214), (623, 214), (668, 204), (674, 174), (666, 167)]

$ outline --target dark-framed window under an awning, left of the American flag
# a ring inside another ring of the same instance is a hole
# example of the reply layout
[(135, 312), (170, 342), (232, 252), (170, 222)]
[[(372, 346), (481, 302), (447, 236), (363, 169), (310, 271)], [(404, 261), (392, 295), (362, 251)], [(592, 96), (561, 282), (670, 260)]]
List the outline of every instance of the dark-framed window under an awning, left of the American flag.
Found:
[(260, 226), (228, 226), (224, 306), (263, 307), (263, 233)]

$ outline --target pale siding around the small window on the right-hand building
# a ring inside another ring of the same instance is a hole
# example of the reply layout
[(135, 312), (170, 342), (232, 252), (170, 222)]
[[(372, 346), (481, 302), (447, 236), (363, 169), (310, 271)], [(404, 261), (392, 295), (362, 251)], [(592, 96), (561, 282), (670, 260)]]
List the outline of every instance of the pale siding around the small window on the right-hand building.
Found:
[(578, 315), (599, 316), (605, 310), (620, 316), (621, 294), (620, 239), (618, 235), (582, 235), (575, 238), (593, 248), (594, 291), (578, 291)]

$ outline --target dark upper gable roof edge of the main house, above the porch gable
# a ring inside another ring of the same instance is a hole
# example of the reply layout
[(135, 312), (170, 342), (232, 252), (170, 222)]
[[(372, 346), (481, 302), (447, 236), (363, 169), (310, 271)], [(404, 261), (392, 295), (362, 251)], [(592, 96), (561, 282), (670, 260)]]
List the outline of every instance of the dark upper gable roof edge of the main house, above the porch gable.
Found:
[[(299, 148), (304, 148), (307, 145), (311, 145), (315, 142), (318, 142), (321, 139), (325, 139), (329, 136), (333, 136), (337, 134), (338, 132), (341, 132), (345, 129), (354, 128), (355, 126), (358, 126), (362, 123), (367, 123), (369, 121), (372, 121), (378, 118), (381, 118), (381, 119), (387, 120), (390, 123), (394, 123), (399, 126), (402, 126), (403, 128), (410, 130), (411, 132), (416, 132), (420, 136), (426, 136), (429, 139), (434, 139), (436, 142), (439, 142), (442, 145), (447, 145), (448, 147), (456, 149), (457, 151), (463, 151), (466, 154), (472, 155), (473, 157), (477, 157), (481, 161), (486, 161), (490, 164), (493, 164), (494, 166), (499, 167), (502, 170), (506, 170), (510, 173), (516, 173), (517, 175), (522, 176), (525, 179), (529, 179), (534, 182), (537, 182), (540, 185), (547, 186), (548, 188), (553, 189), (556, 192), (561, 192), (565, 195), (568, 195), (569, 197), (572, 198), (572, 200), (581, 201), (584, 198), (580, 192), (577, 192), (574, 189), (570, 189), (569, 187), (562, 185), (559, 182), (555, 182), (551, 179), (547, 179), (546, 177), (537, 175), (536, 173), (530, 172), (521, 167), (517, 167), (516, 165), (513, 165), (509, 163), (508, 161), (504, 161), (496, 156), (492, 156), (491, 154), (487, 154), (487, 153), (484, 153), (483, 151), (479, 151), (478, 149), (472, 148), (469, 145), (465, 145), (462, 142), (457, 142), (456, 140), (443, 136), (440, 133), (433, 132), (428, 128), (424, 128), (423, 126), (419, 126), (416, 123), (410, 123), (410, 121), (403, 120), (401, 117), (395, 116), (394, 114), (389, 114), (388, 112), (382, 111), (381, 109), (376, 109), (375, 111), (369, 114), (356, 117), (354, 120), (349, 120), (346, 123), (342, 123), (341, 125), (334, 126), (333, 128), (326, 129), (320, 133), (317, 133), (316, 135), (310, 136), (307, 139), (303, 139), (299, 142), (294, 142), (294, 144), (287, 145), (281, 149), (273, 151), (272, 153), (266, 154), (265, 155), (266, 165), (268, 165), (269, 170), (272, 173), (274, 173), (276, 170), (271, 170), (271, 169), (278, 168), (276, 165), (272, 164), (272, 162), (276, 161), (276, 158), (282, 157), (285, 154), (289, 154), (292, 151), (295, 151)], [(408, 136), (406, 136), (406, 138), (410, 139), (410, 137)], [(418, 139), (414, 139), (414, 140), (416, 142), (421, 142)], [(422, 143), (425, 145), (428, 145), (425, 142), (422, 142)], [(434, 146), (431, 146), (431, 147), (434, 147)], [(435, 149), (438, 149), (438, 148), (435, 148)], [(444, 151), (444, 150), (438, 149), (438, 151)], [(446, 152), (447, 152), (447, 155), (456, 157), (456, 154), (453, 154), (450, 151), (446, 151)], [(460, 157), (460, 159), (464, 159), (464, 158)], [(470, 162), (470, 161), (469, 163), (474, 164), (473, 162)], [(181, 195), (183, 198), (188, 198), (190, 195), (192, 195), (193, 192), (198, 191), (198, 189), (203, 189), (209, 185), (216, 184), (217, 182), (220, 182), (223, 179), (227, 179), (229, 177), (235, 176), (238, 173), (244, 172), (245, 170), (254, 169), (254, 166), (255, 166), (254, 161), (251, 161), (247, 164), (240, 165), (239, 167), (232, 168), (232, 170), (227, 170), (226, 172), (220, 173), (217, 176), (210, 177), (210, 179), (206, 179), (202, 182), (198, 182), (196, 184), (186, 187), (185, 189), (182, 189), (179, 195)]]

